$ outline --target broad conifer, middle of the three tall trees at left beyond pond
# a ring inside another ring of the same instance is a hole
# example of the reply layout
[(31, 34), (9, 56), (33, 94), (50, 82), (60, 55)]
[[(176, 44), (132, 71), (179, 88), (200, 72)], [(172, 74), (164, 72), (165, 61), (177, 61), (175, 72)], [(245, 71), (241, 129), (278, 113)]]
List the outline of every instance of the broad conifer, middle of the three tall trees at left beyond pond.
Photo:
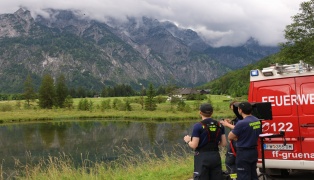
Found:
[(39, 88), (39, 107), (52, 108), (55, 102), (55, 88), (52, 77), (44, 75)]

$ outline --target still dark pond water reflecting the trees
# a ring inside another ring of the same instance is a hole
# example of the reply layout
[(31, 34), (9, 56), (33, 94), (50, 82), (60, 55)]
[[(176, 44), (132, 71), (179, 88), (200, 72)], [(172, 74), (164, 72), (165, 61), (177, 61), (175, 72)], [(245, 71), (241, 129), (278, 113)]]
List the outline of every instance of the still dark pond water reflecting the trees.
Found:
[[(184, 144), (195, 122), (131, 122), (122, 120), (80, 120), (0, 126), (2, 168), (13, 169), (17, 162), (36, 163), (38, 159), (60, 154), (79, 163), (111, 161), (127, 152), (140, 155), (176, 151)], [(178, 150), (180, 151), (180, 150)]]

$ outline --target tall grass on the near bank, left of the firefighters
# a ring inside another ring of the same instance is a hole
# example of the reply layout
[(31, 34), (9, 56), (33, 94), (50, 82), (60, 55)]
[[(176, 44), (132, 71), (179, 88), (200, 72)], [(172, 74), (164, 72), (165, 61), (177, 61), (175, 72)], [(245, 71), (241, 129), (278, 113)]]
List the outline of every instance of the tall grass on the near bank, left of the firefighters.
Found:
[[(144, 152), (141, 157), (121, 156), (113, 162), (84, 160), (81, 167), (75, 167), (69, 156), (61, 155), (25, 165), (13, 177), (34, 180), (188, 180), (192, 177), (193, 155), (188, 151), (180, 154), (164, 154), (157, 158), (151, 152)], [(6, 177), (2, 173), (1, 177)]]

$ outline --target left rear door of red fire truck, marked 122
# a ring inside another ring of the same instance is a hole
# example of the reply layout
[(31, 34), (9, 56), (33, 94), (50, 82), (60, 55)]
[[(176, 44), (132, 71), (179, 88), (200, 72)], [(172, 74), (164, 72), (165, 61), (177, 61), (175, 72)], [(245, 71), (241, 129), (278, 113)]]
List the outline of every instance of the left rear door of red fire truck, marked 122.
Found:
[[(263, 121), (263, 133), (278, 134), (280, 131), (285, 131), (286, 152), (301, 152), (295, 78), (251, 82), (250, 88), (252, 92), (249, 96), (250, 102), (271, 102), (272, 104), (273, 120)], [(282, 138), (273, 138), (271, 142), (267, 142), (265, 157), (267, 159), (291, 159), (292, 157), (286, 157), (285, 154), (280, 155), (280, 157), (272, 155), (272, 151), (278, 150), (277, 147), (282, 144)], [(293, 158), (302, 159), (299, 157)]]

